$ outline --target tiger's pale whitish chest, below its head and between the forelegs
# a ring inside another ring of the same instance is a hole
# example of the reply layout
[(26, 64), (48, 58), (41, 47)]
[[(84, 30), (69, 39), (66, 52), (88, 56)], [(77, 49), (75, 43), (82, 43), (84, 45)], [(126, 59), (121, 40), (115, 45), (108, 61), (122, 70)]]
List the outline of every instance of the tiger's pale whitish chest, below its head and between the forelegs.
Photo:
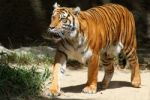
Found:
[(93, 54), (92, 50), (87, 46), (85, 38), (79, 38), (72, 44), (64, 42), (63, 45), (59, 46), (59, 49), (68, 56), (68, 59), (77, 60), (83, 64), (85, 64)]

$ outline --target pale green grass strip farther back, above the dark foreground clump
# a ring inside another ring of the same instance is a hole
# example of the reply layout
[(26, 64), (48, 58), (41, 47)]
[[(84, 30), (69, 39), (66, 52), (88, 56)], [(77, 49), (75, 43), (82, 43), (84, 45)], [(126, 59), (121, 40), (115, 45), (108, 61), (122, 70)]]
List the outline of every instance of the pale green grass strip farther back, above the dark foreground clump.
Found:
[(52, 57), (49, 55), (34, 55), (32, 53), (0, 53), (0, 63), (11, 63), (11, 64), (18, 64), (18, 65), (30, 65), (30, 64), (51, 64), (53, 62)]

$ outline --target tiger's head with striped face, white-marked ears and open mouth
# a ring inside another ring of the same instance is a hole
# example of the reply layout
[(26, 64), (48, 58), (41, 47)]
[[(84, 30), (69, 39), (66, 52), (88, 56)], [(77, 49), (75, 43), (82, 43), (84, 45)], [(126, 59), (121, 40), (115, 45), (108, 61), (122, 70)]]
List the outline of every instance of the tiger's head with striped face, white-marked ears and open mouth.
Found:
[(74, 38), (79, 29), (77, 19), (79, 13), (79, 7), (67, 8), (55, 3), (48, 32), (54, 33), (61, 38)]

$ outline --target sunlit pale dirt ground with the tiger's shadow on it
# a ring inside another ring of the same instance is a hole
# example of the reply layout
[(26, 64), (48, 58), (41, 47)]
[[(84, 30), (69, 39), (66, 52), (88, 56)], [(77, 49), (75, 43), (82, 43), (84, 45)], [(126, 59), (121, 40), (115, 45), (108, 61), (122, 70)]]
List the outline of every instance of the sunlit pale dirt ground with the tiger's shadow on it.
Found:
[[(133, 88), (130, 84), (130, 70), (115, 70), (110, 86), (100, 89), (104, 71), (99, 71), (98, 92), (96, 94), (81, 93), (87, 79), (87, 68), (67, 69), (61, 82), (64, 92), (53, 100), (150, 100), (150, 71), (141, 71), (142, 84)], [(47, 100), (47, 99), (46, 99)], [(48, 99), (49, 100), (49, 99)]]

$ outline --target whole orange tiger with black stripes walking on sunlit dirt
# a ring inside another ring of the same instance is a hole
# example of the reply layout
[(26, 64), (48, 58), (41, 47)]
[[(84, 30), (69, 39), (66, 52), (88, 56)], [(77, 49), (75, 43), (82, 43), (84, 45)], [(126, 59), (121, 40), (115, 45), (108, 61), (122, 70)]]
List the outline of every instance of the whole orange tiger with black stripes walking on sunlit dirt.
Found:
[(96, 93), (99, 64), (105, 68), (102, 88), (107, 88), (114, 73), (113, 59), (123, 52), (131, 66), (131, 84), (141, 84), (135, 21), (133, 14), (118, 4), (105, 4), (80, 11), (54, 4), (48, 31), (61, 38), (53, 64), (49, 93), (60, 93), (60, 78), (68, 59), (88, 65), (88, 80), (84, 93)]

